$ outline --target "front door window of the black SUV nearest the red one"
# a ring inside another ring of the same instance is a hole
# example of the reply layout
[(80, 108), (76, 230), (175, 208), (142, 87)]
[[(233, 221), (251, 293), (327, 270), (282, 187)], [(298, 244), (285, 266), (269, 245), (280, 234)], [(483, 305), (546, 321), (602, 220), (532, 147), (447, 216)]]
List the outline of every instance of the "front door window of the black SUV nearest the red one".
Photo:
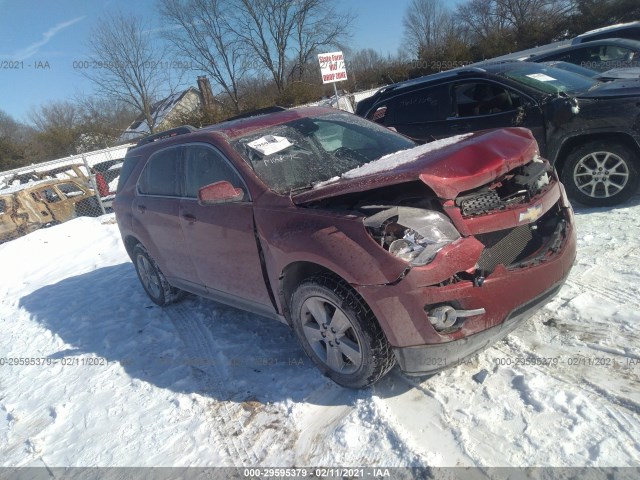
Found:
[(475, 117), (515, 110), (522, 100), (501, 85), (474, 81), (456, 84), (454, 102), (458, 117)]

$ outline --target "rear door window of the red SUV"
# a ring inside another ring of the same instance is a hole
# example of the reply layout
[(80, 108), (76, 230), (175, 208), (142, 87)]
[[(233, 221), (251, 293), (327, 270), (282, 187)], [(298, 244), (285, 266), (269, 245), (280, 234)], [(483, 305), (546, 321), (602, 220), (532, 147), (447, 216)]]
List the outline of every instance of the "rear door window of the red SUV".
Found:
[(144, 195), (179, 197), (180, 148), (168, 148), (151, 156), (138, 180)]

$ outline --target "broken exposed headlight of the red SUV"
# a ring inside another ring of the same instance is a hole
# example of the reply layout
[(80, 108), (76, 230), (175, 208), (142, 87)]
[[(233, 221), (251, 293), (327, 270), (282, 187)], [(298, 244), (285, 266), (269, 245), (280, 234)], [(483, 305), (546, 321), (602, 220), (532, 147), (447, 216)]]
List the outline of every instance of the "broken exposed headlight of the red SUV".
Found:
[(364, 221), (381, 246), (413, 266), (426, 265), (460, 233), (446, 215), (420, 208), (391, 207)]

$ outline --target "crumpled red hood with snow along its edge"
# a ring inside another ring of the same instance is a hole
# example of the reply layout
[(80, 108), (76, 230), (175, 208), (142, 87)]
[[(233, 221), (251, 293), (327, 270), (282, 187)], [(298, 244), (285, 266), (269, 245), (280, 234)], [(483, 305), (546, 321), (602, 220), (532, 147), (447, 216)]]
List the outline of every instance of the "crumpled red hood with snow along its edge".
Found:
[(387, 155), (292, 199), (300, 205), (416, 180), (438, 197), (454, 199), (524, 165), (537, 153), (538, 145), (525, 128), (486, 130)]

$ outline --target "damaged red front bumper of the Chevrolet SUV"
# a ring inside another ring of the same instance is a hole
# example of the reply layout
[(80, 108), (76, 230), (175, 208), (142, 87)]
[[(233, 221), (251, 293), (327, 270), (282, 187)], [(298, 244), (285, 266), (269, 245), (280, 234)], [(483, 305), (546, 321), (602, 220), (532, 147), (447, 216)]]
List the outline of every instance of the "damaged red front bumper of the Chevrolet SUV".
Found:
[[(509, 256), (513, 242), (507, 247), (498, 242), (492, 251), (486, 247), (491, 239), (477, 235), (459, 239), (431, 264), (410, 269), (394, 284), (354, 285), (379, 319), (405, 373), (430, 374), (460, 363), (517, 328), (559, 291), (576, 257), (576, 233), (564, 193), (550, 196), (558, 201), (552, 207), (556, 228), (524, 261)], [(539, 222), (545, 222), (544, 216)], [(516, 236), (518, 228), (513, 229)], [(500, 257), (500, 248), (506, 256)], [(509, 258), (508, 267), (497, 261), (501, 258)], [(483, 264), (489, 268), (486, 275), (478, 268)], [(454, 271), (462, 275), (451, 277)], [(442, 306), (484, 313), (438, 331), (430, 315)]]

